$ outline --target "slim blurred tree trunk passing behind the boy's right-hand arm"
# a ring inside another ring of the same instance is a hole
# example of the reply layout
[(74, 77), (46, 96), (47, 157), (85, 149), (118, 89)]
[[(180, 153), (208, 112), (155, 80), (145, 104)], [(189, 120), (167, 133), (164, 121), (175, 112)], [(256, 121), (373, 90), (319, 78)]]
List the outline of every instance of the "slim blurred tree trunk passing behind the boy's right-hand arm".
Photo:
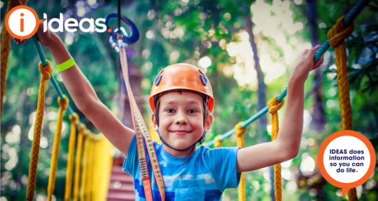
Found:
[[(252, 52), (253, 52), (253, 59), (255, 60), (255, 70), (258, 74), (258, 110), (260, 111), (264, 107), (266, 107), (266, 96), (265, 96), (265, 83), (264, 83), (264, 74), (262, 73), (260, 67), (260, 60), (258, 57), (258, 48), (256, 47), (255, 43), (255, 36), (253, 35), (252, 28), (253, 23), (251, 21), (251, 16), (244, 17), (245, 29), (246, 32), (249, 34), (249, 41), (251, 42)], [(260, 138), (261, 142), (266, 142), (266, 116), (263, 115), (259, 118), (259, 131), (262, 131), (262, 138)], [(271, 175), (271, 198), (275, 200), (275, 187), (274, 187), (274, 167), (269, 167), (269, 173)]]

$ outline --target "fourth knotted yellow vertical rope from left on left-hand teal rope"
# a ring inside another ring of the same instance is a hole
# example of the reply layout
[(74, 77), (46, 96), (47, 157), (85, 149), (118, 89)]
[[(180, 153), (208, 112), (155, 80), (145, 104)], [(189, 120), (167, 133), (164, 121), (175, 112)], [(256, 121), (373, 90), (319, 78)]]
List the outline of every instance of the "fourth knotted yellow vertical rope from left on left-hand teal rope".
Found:
[(78, 191), (80, 184), (80, 167), (81, 167), (81, 152), (83, 150), (83, 136), (85, 135), (85, 130), (87, 126), (81, 123), (78, 127), (78, 136), (76, 142), (76, 158), (75, 158), (75, 178), (74, 178), (74, 201), (78, 201)]

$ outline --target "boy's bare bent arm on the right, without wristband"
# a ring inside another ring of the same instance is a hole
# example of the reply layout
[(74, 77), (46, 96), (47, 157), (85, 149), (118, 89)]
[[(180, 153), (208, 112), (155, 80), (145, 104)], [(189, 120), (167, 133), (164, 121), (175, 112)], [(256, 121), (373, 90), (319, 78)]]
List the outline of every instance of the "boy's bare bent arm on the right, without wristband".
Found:
[(253, 171), (290, 160), (297, 156), (303, 129), (304, 83), (311, 70), (323, 63), (313, 61), (319, 45), (305, 50), (291, 74), (285, 103), (284, 118), (273, 142), (261, 143), (238, 151), (238, 172)]

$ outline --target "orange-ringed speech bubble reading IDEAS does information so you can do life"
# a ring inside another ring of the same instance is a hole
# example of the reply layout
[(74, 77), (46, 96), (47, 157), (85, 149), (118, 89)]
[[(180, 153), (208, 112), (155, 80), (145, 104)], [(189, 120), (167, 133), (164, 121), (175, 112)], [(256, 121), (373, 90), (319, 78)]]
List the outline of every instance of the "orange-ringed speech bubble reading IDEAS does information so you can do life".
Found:
[(350, 130), (328, 136), (317, 156), (322, 176), (330, 184), (342, 188), (342, 196), (370, 178), (376, 161), (374, 147), (368, 138)]

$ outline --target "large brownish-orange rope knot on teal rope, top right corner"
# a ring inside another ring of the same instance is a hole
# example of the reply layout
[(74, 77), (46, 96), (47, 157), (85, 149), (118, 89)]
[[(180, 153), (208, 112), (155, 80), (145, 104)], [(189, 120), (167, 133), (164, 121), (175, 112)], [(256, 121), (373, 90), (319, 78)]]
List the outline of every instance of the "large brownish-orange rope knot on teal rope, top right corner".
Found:
[(340, 43), (343, 43), (346, 38), (352, 34), (353, 29), (355, 28), (355, 24), (352, 23), (348, 27), (344, 25), (344, 18), (346, 15), (337, 19), (333, 28), (328, 31), (327, 37), (329, 39), (329, 45), (333, 48), (337, 47)]

